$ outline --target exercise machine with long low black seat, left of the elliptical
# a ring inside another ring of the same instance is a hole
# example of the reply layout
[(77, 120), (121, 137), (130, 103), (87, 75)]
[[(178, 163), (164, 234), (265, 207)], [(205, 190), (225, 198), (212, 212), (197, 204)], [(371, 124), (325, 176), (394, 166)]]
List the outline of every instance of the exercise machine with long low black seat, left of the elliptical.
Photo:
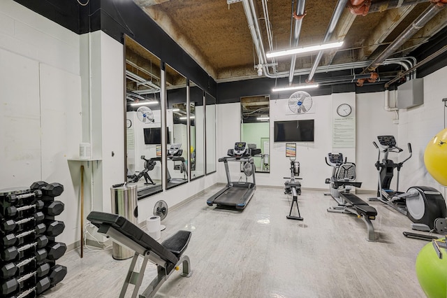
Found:
[(330, 184), (329, 194), (337, 202), (337, 206), (328, 208), (328, 212), (357, 215), (367, 227), (367, 241), (376, 241), (371, 222), (376, 219), (376, 208), (351, 193), (351, 187), (362, 186), (361, 182), (356, 181), (356, 164), (343, 159), (342, 153), (328, 153), (325, 162), (332, 167), (332, 177), (325, 183)]

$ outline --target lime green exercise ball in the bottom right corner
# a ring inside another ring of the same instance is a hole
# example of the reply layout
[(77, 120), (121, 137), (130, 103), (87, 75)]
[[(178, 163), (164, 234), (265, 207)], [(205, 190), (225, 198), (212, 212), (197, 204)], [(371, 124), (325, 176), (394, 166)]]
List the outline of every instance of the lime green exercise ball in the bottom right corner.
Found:
[(416, 276), (420, 288), (429, 298), (447, 297), (447, 251), (439, 259), (432, 243), (427, 243), (416, 258)]

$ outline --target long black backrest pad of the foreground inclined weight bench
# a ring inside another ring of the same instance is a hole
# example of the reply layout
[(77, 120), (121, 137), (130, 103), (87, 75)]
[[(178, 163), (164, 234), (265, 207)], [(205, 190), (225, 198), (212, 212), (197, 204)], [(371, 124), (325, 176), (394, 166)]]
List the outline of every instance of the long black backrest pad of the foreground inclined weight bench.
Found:
[[(177, 264), (179, 261), (179, 258), (174, 253), (171, 253), (168, 248), (165, 248), (158, 241), (146, 234), (142, 229), (136, 225), (133, 225), (132, 222), (126, 220), (126, 218), (123, 218), (120, 215), (91, 211), (89, 215), (87, 215), (87, 220), (98, 227), (99, 232), (103, 231), (104, 227), (104, 232), (107, 231), (108, 227), (113, 227), (118, 232), (128, 237), (130, 241), (138, 243), (138, 245), (142, 246), (146, 250), (153, 251), (166, 262)], [(126, 243), (122, 244), (126, 245)]]

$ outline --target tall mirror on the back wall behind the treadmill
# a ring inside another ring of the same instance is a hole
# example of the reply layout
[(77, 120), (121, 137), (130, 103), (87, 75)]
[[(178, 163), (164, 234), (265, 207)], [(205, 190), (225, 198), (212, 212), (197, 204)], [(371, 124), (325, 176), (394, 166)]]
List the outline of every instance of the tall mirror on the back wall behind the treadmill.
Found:
[[(241, 97), (241, 141), (254, 152), (256, 172), (270, 172), (270, 96)], [(254, 149), (254, 150), (253, 150)]]

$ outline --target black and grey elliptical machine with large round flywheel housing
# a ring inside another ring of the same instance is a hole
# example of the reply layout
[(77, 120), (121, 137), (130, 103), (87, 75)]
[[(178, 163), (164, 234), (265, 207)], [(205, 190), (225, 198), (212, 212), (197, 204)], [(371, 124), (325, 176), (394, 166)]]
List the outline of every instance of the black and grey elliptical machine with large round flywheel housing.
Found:
[[(369, 201), (381, 201), (406, 215), (413, 223), (411, 229), (429, 232), (436, 229), (434, 221), (437, 218), (446, 218), (446, 202), (441, 192), (433, 187), (412, 186), (406, 192), (399, 191), (399, 174), (404, 162), (411, 158), (411, 143), (408, 143), (409, 157), (403, 162), (393, 162), (388, 159), (388, 153), (400, 153), (402, 148), (397, 147), (394, 136), (377, 136), (380, 143), (372, 142), (379, 151), (375, 164), (378, 173), (377, 197), (369, 198)], [(383, 159), (381, 160), (381, 153)], [(396, 190), (390, 190), (390, 183), (397, 169)]]

